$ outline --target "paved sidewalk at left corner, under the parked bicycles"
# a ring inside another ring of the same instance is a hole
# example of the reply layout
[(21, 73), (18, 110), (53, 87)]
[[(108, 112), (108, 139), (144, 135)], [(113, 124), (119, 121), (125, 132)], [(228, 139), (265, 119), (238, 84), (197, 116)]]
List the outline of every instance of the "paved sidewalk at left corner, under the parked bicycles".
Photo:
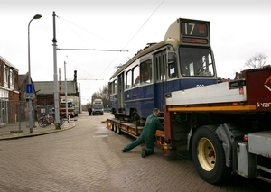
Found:
[(37, 122), (34, 123), (33, 133), (30, 133), (30, 129), (28, 127), (28, 123), (22, 123), (21, 128), (18, 123), (9, 123), (0, 127), (0, 140), (10, 140), (10, 139), (19, 139), (23, 137), (33, 137), (42, 134), (48, 133), (56, 133), (65, 130), (69, 130), (75, 127), (75, 122), (71, 121), (71, 123), (64, 123), (61, 125), (61, 129), (55, 129), (55, 125), (51, 124), (44, 128), (41, 128)]

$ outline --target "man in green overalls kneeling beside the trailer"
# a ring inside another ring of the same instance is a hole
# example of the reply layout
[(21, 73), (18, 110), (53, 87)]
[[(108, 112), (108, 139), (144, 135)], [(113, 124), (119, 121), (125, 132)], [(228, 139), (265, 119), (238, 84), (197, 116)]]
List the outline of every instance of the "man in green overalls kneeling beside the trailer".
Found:
[(136, 146), (145, 143), (146, 148), (142, 148), (141, 157), (145, 158), (147, 155), (154, 154), (154, 142), (155, 142), (155, 133), (156, 130), (164, 130), (164, 125), (157, 118), (160, 115), (160, 110), (154, 108), (153, 114), (149, 115), (146, 119), (143, 132), (140, 136), (134, 141), (126, 145), (122, 150), (123, 152), (130, 151)]

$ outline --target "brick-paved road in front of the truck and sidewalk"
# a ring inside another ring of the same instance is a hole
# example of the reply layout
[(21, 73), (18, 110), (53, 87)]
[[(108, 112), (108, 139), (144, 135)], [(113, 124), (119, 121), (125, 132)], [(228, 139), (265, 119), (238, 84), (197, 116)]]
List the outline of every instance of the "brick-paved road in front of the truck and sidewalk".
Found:
[(0, 141), (0, 191), (267, 191), (271, 185), (236, 177), (214, 186), (204, 182), (192, 161), (164, 157), (156, 149), (141, 158), (141, 147), (122, 153), (134, 138), (118, 135), (101, 121), (77, 117), (76, 127), (60, 133)]

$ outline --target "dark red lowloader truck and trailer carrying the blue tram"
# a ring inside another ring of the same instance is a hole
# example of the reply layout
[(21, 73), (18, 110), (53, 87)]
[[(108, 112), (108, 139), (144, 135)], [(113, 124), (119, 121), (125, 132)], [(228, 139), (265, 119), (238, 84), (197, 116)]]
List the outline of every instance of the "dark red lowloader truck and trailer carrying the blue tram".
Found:
[[(271, 68), (248, 69), (229, 82), (165, 94), (165, 156), (192, 160), (200, 177), (218, 184), (231, 175), (271, 183)], [(110, 129), (135, 138), (143, 126), (117, 118)]]

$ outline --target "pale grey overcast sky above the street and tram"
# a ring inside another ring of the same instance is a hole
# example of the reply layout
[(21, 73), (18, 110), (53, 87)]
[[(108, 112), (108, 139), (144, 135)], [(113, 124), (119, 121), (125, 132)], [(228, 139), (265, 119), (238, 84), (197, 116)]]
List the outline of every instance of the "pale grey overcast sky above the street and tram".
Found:
[(268, 56), (270, 63), (270, 10), (268, 0), (2, 1), (0, 55), (20, 74), (26, 73), (27, 26), (33, 15), (42, 14), (30, 27), (32, 78), (53, 80), (53, 11), (59, 16), (56, 19), (59, 48), (129, 50), (57, 51), (62, 80), (64, 61), (68, 79), (73, 78), (74, 70), (78, 71), (79, 79), (104, 79), (79, 80), (86, 103), (85, 98), (107, 85), (115, 66), (132, 58), (146, 43), (163, 41), (169, 25), (180, 17), (210, 21), (211, 46), (220, 77), (233, 78), (233, 73), (256, 53)]

